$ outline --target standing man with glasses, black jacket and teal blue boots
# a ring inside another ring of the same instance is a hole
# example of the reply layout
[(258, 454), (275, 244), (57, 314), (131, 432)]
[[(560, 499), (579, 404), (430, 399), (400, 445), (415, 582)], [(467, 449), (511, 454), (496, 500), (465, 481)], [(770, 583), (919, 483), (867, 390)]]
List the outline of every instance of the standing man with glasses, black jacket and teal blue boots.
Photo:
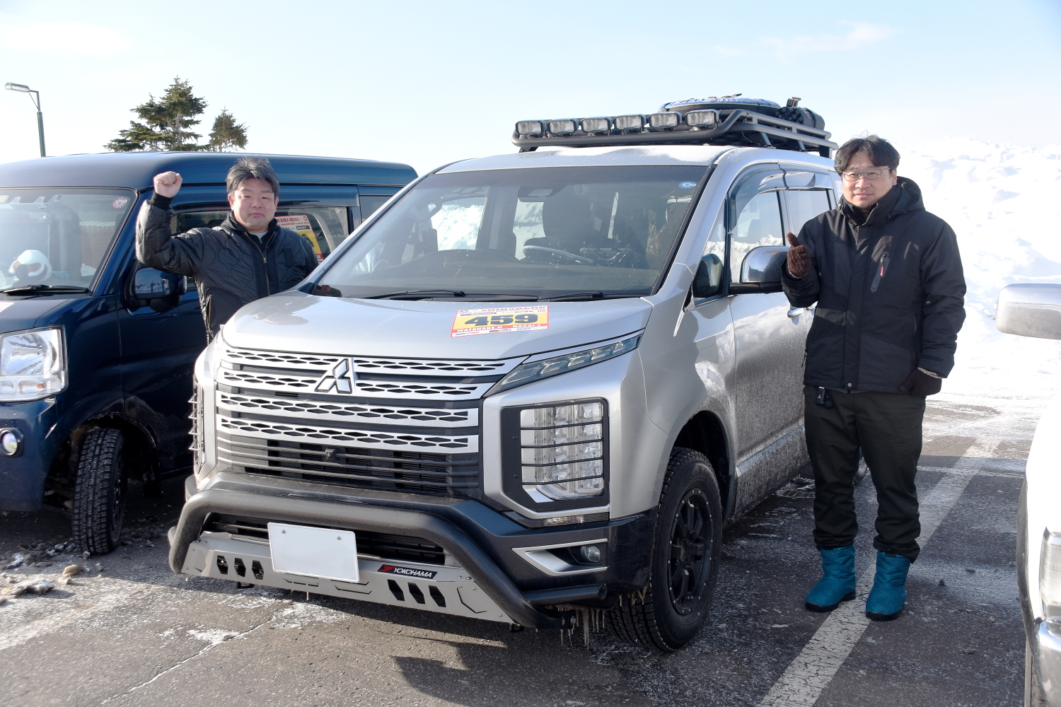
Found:
[(899, 616), (919, 552), (915, 487), (925, 396), (954, 367), (966, 281), (954, 231), (898, 176), (899, 153), (876, 136), (836, 153), (843, 198), (807, 222), (782, 275), (795, 307), (818, 303), (806, 340), (806, 443), (815, 478), (814, 538), (823, 577), (806, 607), (854, 599), (854, 475), (859, 452), (876, 487), (871, 619)]

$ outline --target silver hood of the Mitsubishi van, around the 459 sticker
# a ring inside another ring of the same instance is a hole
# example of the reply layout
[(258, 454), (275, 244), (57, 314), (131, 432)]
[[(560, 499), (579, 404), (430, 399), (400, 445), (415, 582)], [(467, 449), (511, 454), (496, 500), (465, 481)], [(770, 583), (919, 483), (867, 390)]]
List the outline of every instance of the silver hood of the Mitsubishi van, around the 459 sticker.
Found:
[(289, 291), (242, 307), (223, 337), (241, 349), (293, 353), (497, 359), (637, 332), (651, 311), (641, 298), (540, 304), (549, 305), (547, 329), (452, 337), (458, 311), (538, 303), (359, 300)]

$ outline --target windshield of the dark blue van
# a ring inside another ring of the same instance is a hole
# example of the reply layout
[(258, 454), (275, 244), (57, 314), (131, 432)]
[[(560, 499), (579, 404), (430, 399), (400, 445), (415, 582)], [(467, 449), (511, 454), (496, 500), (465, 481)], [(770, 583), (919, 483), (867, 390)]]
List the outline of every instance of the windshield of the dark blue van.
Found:
[(90, 288), (135, 196), (124, 189), (0, 188), (0, 289)]

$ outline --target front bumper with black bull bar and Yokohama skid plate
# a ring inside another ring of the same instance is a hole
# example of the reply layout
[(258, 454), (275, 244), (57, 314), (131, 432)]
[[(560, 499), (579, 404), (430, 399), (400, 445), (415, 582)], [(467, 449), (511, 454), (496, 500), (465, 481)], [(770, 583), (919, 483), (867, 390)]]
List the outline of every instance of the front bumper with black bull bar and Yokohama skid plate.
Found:
[[(571, 612), (543, 606), (607, 605), (622, 594), (639, 590), (647, 580), (651, 544), (646, 542), (646, 534), (653, 529), (653, 518), (647, 514), (587, 527), (527, 530), (474, 500), (347, 489), (340, 493), (283, 480), (251, 484), (239, 478), (243, 475), (222, 476), (225, 478), (213, 480), (202, 491), (189, 477), (188, 501), (178, 525), (170, 531), (170, 566), (176, 572), (536, 629), (570, 626)], [(318, 578), (308, 581), (275, 572), (267, 542), (204, 532), (204, 523), (211, 513), (419, 537), (440, 546), (447, 562), (388, 563), (362, 555), (361, 583), (356, 585)], [(585, 543), (606, 545), (607, 567), (551, 572), (525, 559), (540, 554), (539, 548)], [(219, 562), (219, 555), (225, 555), (225, 561)], [(233, 571), (237, 558), (243, 575)], [(381, 571), (384, 564), (417, 571), (396, 577)]]

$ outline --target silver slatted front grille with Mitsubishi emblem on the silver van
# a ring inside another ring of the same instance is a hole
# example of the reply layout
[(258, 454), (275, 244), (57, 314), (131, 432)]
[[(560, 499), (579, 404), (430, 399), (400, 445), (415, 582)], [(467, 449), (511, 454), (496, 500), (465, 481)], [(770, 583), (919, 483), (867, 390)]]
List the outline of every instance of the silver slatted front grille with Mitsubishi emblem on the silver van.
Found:
[(521, 360), (227, 349), (214, 401), (218, 461), (314, 483), (473, 495), (479, 399)]

